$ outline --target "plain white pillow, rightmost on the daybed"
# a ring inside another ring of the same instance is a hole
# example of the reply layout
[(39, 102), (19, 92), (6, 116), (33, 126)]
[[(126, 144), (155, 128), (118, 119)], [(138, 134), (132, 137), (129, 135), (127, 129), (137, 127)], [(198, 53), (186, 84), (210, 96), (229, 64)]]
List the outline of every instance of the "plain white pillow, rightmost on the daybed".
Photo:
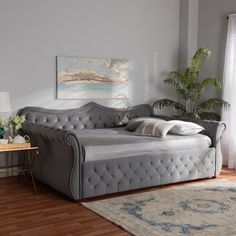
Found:
[(169, 133), (171, 134), (194, 135), (204, 130), (202, 126), (197, 125), (193, 122), (170, 120), (169, 123), (174, 125), (169, 131)]

